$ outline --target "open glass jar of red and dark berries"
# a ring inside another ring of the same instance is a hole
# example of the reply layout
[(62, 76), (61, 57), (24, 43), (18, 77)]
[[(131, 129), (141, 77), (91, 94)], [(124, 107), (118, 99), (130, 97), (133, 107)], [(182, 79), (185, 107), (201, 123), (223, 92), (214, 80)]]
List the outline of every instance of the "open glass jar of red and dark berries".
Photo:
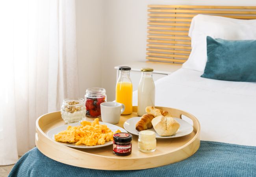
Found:
[(87, 117), (100, 117), (100, 103), (107, 101), (106, 90), (102, 88), (86, 89), (85, 107)]

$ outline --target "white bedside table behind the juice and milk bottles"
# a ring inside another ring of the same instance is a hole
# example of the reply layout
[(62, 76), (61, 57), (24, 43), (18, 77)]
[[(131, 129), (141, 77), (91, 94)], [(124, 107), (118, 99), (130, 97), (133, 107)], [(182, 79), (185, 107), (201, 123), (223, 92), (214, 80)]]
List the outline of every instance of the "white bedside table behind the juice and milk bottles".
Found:
[[(158, 79), (168, 76), (182, 67), (182, 65), (166, 65), (161, 63), (147, 63), (143, 61), (126, 63), (119, 66), (130, 66), (132, 68), (130, 71), (130, 77), (132, 79), (133, 91), (138, 89), (139, 81), (141, 79), (141, 68), (153, 68), (153, 79), (154, 81), (157, 81)], [(117, 79), (119, 77), (119, 66), (115, 66), (115, 69), (117, 70)]]

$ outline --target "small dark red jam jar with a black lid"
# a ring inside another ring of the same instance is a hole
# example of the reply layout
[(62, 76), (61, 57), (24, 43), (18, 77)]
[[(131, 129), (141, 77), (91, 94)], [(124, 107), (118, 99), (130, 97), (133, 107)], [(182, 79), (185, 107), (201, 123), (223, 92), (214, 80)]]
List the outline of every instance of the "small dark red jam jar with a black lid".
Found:
[(115, 133), (113, 135), (113, 153), (120, 156), (132, 153), (132, 135), (130, 133)]

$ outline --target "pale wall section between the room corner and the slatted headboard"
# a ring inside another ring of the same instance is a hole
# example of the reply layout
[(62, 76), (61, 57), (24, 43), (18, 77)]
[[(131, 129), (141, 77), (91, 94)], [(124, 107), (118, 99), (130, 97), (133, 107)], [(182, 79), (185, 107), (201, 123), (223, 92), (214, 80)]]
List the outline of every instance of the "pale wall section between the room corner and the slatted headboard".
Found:
[[(114, 66), (145, 60), (147, 40), (147, 6), (141, 0), (107, 0), (104, 20), (104, 58), (102, 87), (108, 100), (115, 100)], [(105, 73), (108, 73), (107, 75)]]

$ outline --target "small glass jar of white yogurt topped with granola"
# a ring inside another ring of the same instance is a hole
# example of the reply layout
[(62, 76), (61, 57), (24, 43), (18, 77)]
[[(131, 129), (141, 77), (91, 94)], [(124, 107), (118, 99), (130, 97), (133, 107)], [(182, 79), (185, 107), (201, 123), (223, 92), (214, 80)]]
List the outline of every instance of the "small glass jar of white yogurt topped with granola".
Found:
[(67, 123), (79, 122), (85, 118), (85, 103), (83, 98), (63, 100), (61, 118)]

